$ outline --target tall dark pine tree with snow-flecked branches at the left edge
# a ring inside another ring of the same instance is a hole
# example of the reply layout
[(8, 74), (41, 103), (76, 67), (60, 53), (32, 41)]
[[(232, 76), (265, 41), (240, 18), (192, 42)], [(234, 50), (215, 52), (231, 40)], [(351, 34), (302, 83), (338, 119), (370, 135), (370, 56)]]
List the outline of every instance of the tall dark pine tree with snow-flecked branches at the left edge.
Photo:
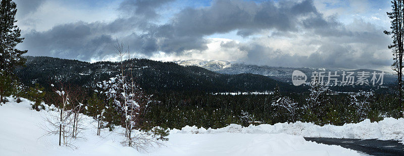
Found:
[(21, 55), (27, 50), (16, 49), (18, 43), (23, 42), (21, 30), (14, 25), (17, 20), (17, 5), (11, 0), (0, 2), (0, 102), (5, 102), (5, 92), (11, 84), (13, 70), (16, 66), (24, 65), (25, 59)]

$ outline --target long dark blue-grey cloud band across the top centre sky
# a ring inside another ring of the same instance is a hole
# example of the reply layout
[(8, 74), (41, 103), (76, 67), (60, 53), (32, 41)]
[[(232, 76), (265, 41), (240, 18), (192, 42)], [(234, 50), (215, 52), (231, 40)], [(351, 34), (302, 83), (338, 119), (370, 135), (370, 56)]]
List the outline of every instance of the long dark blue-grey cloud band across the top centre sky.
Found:
[[(297, 8), (297, 9), (296, 9)], [(206, 8), (186, 8), (164, 25), (149, 27), (145, 42), (158, 41), (149, 49), (181, 54), (185, 50), (204, 50), (208, 43), (204, 36), (239, 30), (248, 36), (262, 30), (297, 31), (299, 17), (322, 16), (312, 1), (275, 4), (272, 1), (257, 4), (249, 1), (214, 1)], [(143, 38), (141, 38), (143, 39)], [(136, 39), (135, 39), (136, 40)]]

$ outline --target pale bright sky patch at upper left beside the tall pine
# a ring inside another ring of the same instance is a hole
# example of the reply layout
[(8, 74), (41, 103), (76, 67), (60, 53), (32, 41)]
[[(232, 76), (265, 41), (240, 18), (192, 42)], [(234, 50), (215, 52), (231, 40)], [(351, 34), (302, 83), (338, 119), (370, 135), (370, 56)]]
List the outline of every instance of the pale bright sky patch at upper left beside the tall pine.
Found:
[[(26, 0), (16, 1), (17, 6)], [(118, 17), (117, 7), (122, 0), (115, 1), (44, 1), (35, 11), (27, 15), (17, 12), (17, 25), (25, 31), (46, 31), (60, 24), (71, 22), (110, 22)]]

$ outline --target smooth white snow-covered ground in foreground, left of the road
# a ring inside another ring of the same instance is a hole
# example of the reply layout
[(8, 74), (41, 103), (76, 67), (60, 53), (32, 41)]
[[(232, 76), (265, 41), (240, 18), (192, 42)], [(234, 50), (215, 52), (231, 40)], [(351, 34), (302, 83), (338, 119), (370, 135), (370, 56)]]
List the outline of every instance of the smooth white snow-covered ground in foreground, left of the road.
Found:
[(269, 125), (247, 128), (231, 125), (217, 130), (200, 128), (197, 129), (199, 134), (194, 134), (196, 127), (174, 129), (165, 146), (145, 153), (120, 144), (122, 128), (113, 132), (105, 129), (101, 136), (96, 136), (96, 122), (90, 117), (84, 120), (85, 138), (78, 138), (73, 143), (77, 148), (60, 147), (59, 136), (44, 135), (41, 128), (46, 124), (43, 118), (48, 112), (31, 110), (29, 101), (22, 100), (0, 106), (0, 155), (359, 155), (357, 151), (340, 146), (306, 141), (298, 136), (301, 133), (289, 135), (285, 134), (289, 131), (267, 131), (279, 128), (279, 124), (274, 128)]

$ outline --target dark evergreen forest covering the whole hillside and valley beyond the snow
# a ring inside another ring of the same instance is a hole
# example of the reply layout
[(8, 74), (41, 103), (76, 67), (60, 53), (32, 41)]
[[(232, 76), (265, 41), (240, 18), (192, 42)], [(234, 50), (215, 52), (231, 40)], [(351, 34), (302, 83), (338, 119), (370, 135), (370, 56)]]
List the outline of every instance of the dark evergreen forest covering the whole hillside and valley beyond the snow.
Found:
[[(55, 92), (51, 91), (51, 84), (63, 83), (65, 86), (84, 89), (83, 97), (88, 100), (84, 101), (85, 105), (91, 106), (91, 103), (103, 100), (105, 105), (111, 106), (111, 101), (106, 95), (99, 92), (94, 94), (94, 90), (100, 89), (96, 86), (98, 82), (110, 81), (110, 78), (120, 74), (119, 62), (87, 63), (50, 57), (26, 58), (25, 66), (17, 68), (15, 73), (26, 86), (32, 88), (33, 84), (37, 84), (36, 88), (45, 87), (45, 103), (52, 103), (49, 99), (56, 96)], [(311, 95), (309, 96), (310, 92), (313, 93), (309, 90), (310, 86), (296, 87), (263, 75), (227, 75), (197, 66), (180, 66), (172, 62), (147, 59), (131, 59), (122, 62), (122, 65), (124, 75), (133, 75), (137, 84), (146, 93), (153, 94), (151, 99), (156, 101), (148, 105), (147, 114), (144, 116), (146, 126), (180, 128), (185, 125), (197, 125), (220, 128), (230, 123), (247, 125), (249, 121), (277, 123), (296, 120), (338, 125), (359, 122), (362, 118), (377, 120), (381, 116), (397, 116), (397, 106), (392, 102), (394, 97), (389, 93), (391, 91), (389, 88), (366, 85), (330, 86), (331, 90), (322, 95), (326, 97), (327, 102), (323, 101), (323, 105), (319, 105), (321, 108), (314, 107), (307, 112), (307, 108), (303, 108), (313, 103), (310, 101)], [(366, 108), (366, 114), (351, 114), (358, 109), (350, 104), (352, 92), (372, 89), (377, 93), (375, 94), (377, 98), (367, 104), (369, 106)], [(275, 92), (269, 95), (225, 93), (240, 91)], [(216, 92), (224, 94), (212, 94)], [(274, 104), (282, 96), (286, 101), (295, 101), (293, 115)], [(122, 124), (121, 119), (117, 118), (116, 110), (108, 109), (107, 112), (106, 121)], [(89, 111), (90, 116), (96, 116), (91, 113)], [(289, 118), (291, 116), (293, 119)]]

